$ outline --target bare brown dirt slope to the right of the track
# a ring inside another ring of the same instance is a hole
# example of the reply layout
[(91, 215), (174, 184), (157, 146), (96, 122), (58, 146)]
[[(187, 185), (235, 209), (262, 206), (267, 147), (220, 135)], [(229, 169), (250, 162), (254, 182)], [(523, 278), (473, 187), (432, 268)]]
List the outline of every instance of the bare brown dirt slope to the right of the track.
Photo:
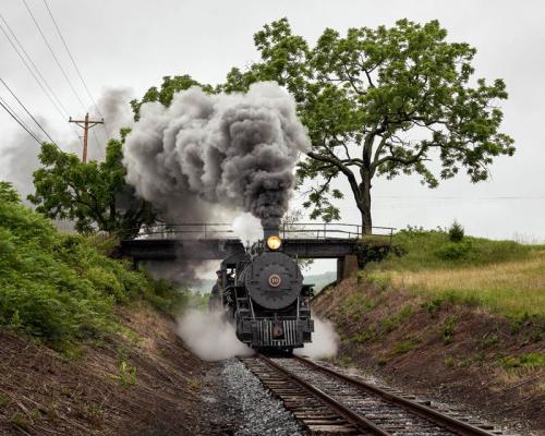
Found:
[(543, 322), (426, 300), (349, 279), (319, 294), (317, 314), (340, 335), (336, 363), (355, 365), (415, 393), (482, 411), (525, 434), (545, 434)]

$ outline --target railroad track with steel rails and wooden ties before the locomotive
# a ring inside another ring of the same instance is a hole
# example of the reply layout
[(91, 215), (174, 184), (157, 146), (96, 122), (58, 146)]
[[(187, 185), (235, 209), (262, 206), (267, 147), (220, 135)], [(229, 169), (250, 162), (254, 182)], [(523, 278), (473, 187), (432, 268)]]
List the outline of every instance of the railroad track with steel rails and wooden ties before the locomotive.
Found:
[(417, 402), (307, 359), (242, 359), (314, 435), (494, 436), (492, 426)]

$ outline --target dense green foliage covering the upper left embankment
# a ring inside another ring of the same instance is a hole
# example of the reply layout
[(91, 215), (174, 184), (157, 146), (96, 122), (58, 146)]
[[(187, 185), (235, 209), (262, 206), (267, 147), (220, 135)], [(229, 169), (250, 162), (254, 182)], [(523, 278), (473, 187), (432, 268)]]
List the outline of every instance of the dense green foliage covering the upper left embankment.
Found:
[(183, 294), (100, 254), (82, 235), (60, 234), (0, 183), (0, 326), (63, 348), (111, 331), (118, 303)]

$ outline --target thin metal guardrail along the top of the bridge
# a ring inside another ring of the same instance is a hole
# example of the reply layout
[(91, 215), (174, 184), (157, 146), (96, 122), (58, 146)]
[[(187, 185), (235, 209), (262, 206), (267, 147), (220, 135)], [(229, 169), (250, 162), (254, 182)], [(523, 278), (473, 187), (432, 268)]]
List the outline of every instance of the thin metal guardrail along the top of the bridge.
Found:
[[(392, 227), (372, 228), (364, 233), (361, 225), (342, 222), (289, 222), (280, 226), (282, 239), (360, 239), (393, 237)], [(143, 227), (135, 239), (238, 239), (232, 226), (225, 222), (162, 223)]]

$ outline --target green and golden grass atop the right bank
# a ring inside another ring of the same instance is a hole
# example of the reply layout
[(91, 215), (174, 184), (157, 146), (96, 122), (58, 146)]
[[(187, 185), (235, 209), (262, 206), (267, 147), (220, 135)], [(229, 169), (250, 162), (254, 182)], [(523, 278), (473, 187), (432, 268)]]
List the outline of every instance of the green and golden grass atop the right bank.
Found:
[(446, 232), (420, 230), (396, 234), (395, 243), (405, 254), (371, 264), (371, 282), (412, 290), (429, 304), (449, 300), (506, 316), (545, 316), (543, 245), (471, 237), (453, 243)]

